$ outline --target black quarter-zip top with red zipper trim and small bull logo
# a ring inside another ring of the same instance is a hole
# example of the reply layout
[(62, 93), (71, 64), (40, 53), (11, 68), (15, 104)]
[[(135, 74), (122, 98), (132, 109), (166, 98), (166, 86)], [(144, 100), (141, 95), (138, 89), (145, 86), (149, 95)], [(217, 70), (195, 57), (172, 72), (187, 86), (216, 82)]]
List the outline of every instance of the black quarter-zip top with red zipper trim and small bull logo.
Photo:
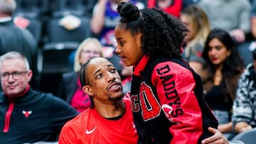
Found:
[(78, 115), (67, 102), (53, 94), (27, 87), (20, 96), (0, 93), (0, 143), (56, 141), (64, 124)]

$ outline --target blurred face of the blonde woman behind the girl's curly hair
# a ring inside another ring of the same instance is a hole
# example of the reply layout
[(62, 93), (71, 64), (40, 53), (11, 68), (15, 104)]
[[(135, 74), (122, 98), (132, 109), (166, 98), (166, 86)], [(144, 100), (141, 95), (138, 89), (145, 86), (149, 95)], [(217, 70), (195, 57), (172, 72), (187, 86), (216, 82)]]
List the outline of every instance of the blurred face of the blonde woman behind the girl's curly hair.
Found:
[(186, 35), (185, 42), (188, 43), (189, 41), (193, 40), (193, 38), (196, 37), (196, 26), (194, 23), (192, 23), (192, 19), (187, 14), (181, 14), (181, 22), (184, 23), (184, 25), (187, 26), (188, 35)]

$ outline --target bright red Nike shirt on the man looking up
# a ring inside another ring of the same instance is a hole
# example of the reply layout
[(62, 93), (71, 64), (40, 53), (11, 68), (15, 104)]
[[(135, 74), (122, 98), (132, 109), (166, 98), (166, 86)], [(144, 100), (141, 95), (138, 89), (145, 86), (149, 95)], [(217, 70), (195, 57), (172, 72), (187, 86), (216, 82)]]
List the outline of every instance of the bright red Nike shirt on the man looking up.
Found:
[(135, 144), (137, 130), (132, 118), (131, 103), (124, 98), (125, 112), (118, 119), (100, 116), (95, 108), (87, 109), (63, 126), (59, 144)]

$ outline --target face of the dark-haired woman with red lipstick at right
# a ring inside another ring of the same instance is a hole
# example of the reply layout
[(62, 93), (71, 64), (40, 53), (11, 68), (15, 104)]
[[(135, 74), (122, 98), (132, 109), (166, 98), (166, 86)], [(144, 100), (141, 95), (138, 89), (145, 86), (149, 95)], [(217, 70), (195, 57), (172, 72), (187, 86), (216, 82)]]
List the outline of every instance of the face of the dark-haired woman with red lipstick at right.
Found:
[(228, 50), (218, 38), (213, 38), (208, 44), (208, 57), (213, 65), (222, 65), (223, 62), (229, 57), (231, 51)]

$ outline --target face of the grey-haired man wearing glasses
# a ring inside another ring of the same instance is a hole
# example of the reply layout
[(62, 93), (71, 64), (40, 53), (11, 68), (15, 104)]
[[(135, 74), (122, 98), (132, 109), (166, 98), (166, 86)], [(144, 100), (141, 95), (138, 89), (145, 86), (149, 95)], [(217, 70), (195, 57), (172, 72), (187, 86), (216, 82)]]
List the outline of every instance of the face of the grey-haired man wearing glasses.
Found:
[(31, 70), (26, 70), (25, 62), (21, 59), (6, 59), (0, 65), (1, 87), (4, 94), (17, 96), (21, 94), (31, 80)]

